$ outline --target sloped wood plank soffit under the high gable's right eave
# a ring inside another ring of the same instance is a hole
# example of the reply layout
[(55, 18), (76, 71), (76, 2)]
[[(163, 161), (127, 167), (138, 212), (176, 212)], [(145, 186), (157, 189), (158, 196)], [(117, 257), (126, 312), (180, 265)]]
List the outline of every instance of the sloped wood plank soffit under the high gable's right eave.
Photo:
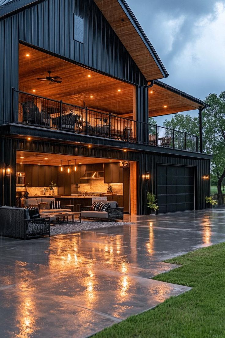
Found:
[(117, 0), (94, 0), (147, 80), (163, 74)]

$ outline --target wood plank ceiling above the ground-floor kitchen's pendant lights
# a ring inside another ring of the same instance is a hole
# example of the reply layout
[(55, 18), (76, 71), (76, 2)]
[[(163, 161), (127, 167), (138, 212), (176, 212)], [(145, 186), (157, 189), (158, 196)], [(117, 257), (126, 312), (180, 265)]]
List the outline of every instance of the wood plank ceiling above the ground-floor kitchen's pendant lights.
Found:
[(32, 152), (32, 151), (17, 151), (17, 164), (34, 164), (34, 165), (45, 165), (45, 166), (59, 166), (63, 160), (62, 165), (68, 166), (75, 164), (92, 164), (92, 163), (108, 163), (108, 162), (119, 162), (115, 159), (101, 159), (95, 157), (85, 156), (72, 156), (72, 155), (60, 155), (50, 154), (44, 152)]

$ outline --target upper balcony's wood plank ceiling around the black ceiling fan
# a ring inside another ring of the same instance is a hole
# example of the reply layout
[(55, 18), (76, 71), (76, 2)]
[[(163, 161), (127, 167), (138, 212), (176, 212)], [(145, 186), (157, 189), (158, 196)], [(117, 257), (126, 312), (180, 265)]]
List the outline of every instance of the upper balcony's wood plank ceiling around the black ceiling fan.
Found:
[[(48, 70), (52, 71), (51, 76), (62, 77), (62, 83), (37, 80), (37, 77), (48, 76)], [(22, 44), (19, 50), (19, 88), (70, 104), (83, 106), (85, 101), (92, 109), (133, 116), (133, 85)]]

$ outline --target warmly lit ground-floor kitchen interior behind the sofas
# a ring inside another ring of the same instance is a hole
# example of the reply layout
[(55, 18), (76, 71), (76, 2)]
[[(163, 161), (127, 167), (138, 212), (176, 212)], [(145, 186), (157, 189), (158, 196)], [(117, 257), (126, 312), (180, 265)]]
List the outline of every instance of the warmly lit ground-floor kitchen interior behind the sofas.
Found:
[(94, 200), (116, 201), (126, 214), (136, 214), (136, 162), (85, 156), (17, 151), (17, 205), (24, 197), (54, 197), (74, 212)]

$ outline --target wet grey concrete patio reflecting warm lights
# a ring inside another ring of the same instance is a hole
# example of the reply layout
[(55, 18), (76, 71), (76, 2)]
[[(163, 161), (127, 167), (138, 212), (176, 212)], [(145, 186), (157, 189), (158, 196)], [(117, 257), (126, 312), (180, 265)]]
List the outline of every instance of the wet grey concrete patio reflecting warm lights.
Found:
[[(128, 216), (129, 225), (0, 239), (1, 337), (89, 337), (190, 288), (149, 278), (225, 241), (225, 210)], [(76, 224), (75, 224), (76, 230)]]

